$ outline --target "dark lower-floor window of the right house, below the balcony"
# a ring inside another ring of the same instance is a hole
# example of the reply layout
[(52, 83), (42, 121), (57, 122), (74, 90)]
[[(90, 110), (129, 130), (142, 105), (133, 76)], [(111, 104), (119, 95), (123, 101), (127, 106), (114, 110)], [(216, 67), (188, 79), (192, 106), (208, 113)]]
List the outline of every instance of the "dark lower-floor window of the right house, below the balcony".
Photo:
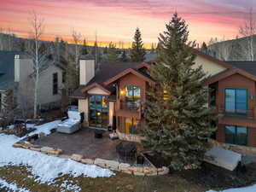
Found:
[(225, 143), (247, 145), (247, 133), (247, 127), (226, 125)]

